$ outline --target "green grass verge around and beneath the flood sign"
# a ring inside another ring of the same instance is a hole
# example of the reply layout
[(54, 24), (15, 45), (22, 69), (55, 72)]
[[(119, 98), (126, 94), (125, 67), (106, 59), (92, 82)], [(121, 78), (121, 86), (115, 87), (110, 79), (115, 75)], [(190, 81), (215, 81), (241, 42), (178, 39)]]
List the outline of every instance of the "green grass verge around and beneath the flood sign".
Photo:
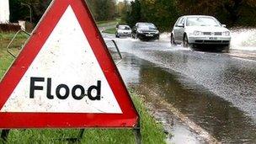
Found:
[[(6, 72), (13, 61), (9, 56), (6, 46), (13, 37), (12, 33), (0, 33), (0, 78)], [(24, 35), (19, 35), (13, 43), (13, 49), (19, 47), (27, 39)], [(13, 50), (17, 52), (16, 50)], [(148, 114), (142, 100), (131, 91), (131, 98), (141, 115), (141, 136), (143, 143), (165, 143), (165, 134), (163, 126), (158, 124), (151, 115)], [(67, 141), (58, 141), (58, 139), (77, 137), (78, 130), (12, 130), (8, 136), (8, 143), (68, 143)], [(3, 141), (0, 141), (2, 143)], [(101, 130), (89, 129), (85, 131), (82, 143), (135, 143), (135, 137), (131, 130)]]

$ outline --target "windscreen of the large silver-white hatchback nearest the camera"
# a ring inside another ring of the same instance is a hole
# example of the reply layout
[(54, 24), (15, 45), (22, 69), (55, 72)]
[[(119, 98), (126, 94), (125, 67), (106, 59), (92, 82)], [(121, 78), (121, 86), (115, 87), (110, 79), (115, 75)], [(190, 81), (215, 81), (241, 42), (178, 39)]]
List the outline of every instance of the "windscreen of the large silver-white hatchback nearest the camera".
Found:
[(213, 18), (192, 17), (187, 19), (187, 26), (221, 26), (220, 23)]

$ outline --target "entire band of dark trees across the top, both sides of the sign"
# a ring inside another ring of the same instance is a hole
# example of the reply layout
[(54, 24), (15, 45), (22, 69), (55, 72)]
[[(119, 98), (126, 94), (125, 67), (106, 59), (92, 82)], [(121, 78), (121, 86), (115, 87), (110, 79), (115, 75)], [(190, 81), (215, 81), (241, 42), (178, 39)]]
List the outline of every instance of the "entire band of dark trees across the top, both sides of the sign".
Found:
[[(96, 21), (121, 17), (122, 23), (151, 22), (161, 31), (169, 31), (179, 16), (205, 14), (215, 16), (222, 24), (256, 26), (256, 0), (86, 0)], [(51, 0), (10, 0), (10, 21), (30, 20), (36, 24)]]

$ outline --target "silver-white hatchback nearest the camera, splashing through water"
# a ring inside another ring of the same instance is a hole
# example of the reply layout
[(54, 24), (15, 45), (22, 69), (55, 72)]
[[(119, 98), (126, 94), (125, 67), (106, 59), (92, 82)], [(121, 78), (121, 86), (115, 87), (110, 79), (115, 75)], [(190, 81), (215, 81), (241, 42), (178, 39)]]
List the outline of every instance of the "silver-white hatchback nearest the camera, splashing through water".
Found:
[(184, 47), (195, 45), (222, 45), (229, 48), (230, 30), (217, 19), (205, 15), (188, 15), (180, 17), (171, 34), (172, 45), (183, 44)]

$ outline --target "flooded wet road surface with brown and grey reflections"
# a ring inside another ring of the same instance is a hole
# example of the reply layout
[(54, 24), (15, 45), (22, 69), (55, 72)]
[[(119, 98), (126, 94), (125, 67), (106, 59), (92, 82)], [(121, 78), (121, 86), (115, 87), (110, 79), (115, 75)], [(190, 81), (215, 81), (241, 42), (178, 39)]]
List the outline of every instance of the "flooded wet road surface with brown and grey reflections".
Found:
[[(104, 39), (114, 37), (104, 35)], [(171, 47), (166, 39), (115, 40), (124, 56), (118, 68), (127, 86), (173, 105), (217, 141), (256, 142), (256, 51), (252, 45), (243, 50), (232, 45), (229, 53), (221, 53)], [(154, 104), (155, 100), (148, 99), (152, 109), (159, 109), (158, 118), (179, 127), (173, 127), (174, 134), (187, 131), (185, 143), (205, 141), (189, 133), (179, 119), (170, 120), (168, 110)], [(183, 138), (174, 135), (172, 141), (184, 143), (175, 141)]]

